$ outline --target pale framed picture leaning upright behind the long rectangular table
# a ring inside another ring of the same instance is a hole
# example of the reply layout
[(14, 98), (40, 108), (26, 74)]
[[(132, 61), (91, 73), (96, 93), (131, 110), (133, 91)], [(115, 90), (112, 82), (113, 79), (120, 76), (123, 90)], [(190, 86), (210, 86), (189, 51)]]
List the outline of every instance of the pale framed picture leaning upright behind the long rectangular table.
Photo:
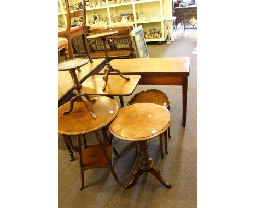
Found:
[(136, 54), (136, 58), (149, 58), (148, 47), (144, 38), (142, 26), (131, 31), (132, 45)]

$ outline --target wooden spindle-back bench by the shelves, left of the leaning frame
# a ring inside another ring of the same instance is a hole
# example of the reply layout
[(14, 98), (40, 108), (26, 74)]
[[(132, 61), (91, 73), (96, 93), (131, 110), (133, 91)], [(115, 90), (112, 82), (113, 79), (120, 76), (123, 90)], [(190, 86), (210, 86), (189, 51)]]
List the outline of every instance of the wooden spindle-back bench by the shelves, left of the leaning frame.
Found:
[[(109, 31), (118, 31), (117, 35), (109, 36), (107, 38), (107, 48), (110, 59), (115, 58), (133, 58), (132, 54), (132, 41), (130, 33), (132, 26), (130, 27), (119, 27), (112, 29), (94, 29), (89, 30), (89, 34), (98, 34)], [(92, 58), (104, 58), (105, 52), (103, 42), (101, 39), (90, 40), (89, 48)]]

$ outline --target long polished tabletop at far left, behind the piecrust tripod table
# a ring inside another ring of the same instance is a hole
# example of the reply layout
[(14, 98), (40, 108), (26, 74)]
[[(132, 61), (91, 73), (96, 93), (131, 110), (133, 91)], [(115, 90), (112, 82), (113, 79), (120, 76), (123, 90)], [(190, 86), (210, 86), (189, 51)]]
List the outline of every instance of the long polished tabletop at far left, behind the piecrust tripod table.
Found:
[[(88, 63), (82, 66), (80, 72), (77, 72), (77, 77), (80, 83), (92, 74), (97, 74), (105, 65), (105, 59), (94, 59), (93, 63)], [(58, 100), (59, 103), (68, 93), (72, 93), (74, 82), (68, 71), (58, 71)], [(73, 94), (73, 93), (72, 93)]]

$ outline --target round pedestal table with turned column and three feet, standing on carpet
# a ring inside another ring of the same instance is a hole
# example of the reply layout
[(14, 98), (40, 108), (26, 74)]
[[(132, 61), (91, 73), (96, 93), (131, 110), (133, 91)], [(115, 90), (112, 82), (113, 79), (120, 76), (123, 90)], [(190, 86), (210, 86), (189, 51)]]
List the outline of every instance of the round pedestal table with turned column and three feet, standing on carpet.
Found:
[(158, 168), (153, 166), (146, 142), (164, 133), (171, 123), (171, 113), (154, 103), (136, 103), (120, 109), (115, 120), (109, 125), (109, 131), (119, 139), (138, 142), (141, 152), (141, 158), (133, 170), (132, 179), (125, 184), (125, 189), (130, 188), (144, 172), (150, 172), (160, 183), (171, 188), (171, 184), (162, 179)]

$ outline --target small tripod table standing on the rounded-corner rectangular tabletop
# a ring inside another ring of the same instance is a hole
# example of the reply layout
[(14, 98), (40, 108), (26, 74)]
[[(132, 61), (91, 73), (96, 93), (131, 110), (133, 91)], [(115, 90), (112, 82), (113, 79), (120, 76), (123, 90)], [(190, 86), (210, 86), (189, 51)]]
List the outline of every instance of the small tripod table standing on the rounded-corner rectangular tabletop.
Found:
[(109, 62), (109, 55), (108, 55), (108, 50), (107, 50), (107, 46), (106, 46), (106, 38), (109, 37), (109, 36), (113, 36), (113, 35), (116, 35), (118, 34), (118, 31), (110, 31), (110, 32), (104, 32), (104, 33), (97, 33), (97, 34), (94, 34), (94, 35), (89, 35), (87, 37), (87, 39), (101, 39), (102, 42), (103, 42), (103, 46), (104, 46), (104, 51), (105, 51), (105, 59), (106, 59), (106, 69), (104, 71), (104, 77), (103, 77), (103, 80), (104, 80), (104, 86), (102, 88), (102, 91), (105, 91), (106, 88), (107, 88), (107, 83), (108, 83), (108, 75), (111, 73), (111, 72), (117, 72), (118, 75), (120, 75), (123, 79), (125, 80), (130, 80), (129, 77), (124, 77), (121, 73), (121, 71), (119, 69), (114, 69), (111, 65), (110, 65), (110, 62)]

